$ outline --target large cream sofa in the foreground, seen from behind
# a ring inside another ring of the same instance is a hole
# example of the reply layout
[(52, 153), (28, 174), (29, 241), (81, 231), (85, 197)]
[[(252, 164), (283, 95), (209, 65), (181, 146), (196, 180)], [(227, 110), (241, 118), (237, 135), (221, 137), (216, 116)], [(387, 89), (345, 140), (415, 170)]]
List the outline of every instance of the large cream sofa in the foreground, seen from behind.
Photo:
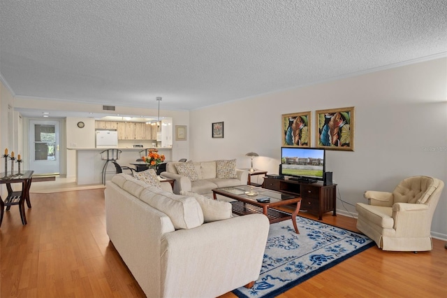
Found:
[[(258, 279), (265, 215), (231, 217), (227, 202), (161, 187), (121, 173), (105, 188), (108, 236), (147, 297), (217, 297)], [(203, 223), (210, 213), (228, 219)]]

